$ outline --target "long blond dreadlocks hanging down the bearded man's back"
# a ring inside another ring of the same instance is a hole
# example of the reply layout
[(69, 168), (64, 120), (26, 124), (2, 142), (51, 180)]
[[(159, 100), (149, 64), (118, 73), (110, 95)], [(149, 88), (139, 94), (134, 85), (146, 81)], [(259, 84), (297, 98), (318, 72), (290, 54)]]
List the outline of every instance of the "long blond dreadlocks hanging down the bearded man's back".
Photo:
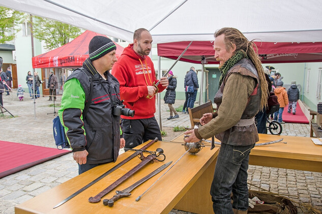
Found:
[[(262, 111), (265, 106), (268, 106), (267, 99), (269, 95), (268, 91), (268, 83), (265, 78), (264, 69), (261, 66), (261, 61), (257, 55), (258, 49), (256, 45), (252, 41), (248, 41), (245, 35), (236, 28), (232, 27), (224, 27), (215, 32), (215, 37), (224, 34), (224, 44), (226, 50), (229, 51), (233, 48), (232, 44), (236, 45), (236, 51), (241, 50), (245, 56), (247, 55), (248, 58), (253, 62), (255, 68), (258, 72), (258, 77), (260, 80), (260, 88), (261, 88), (261, 99), (260, 99), (260, 111)], [(255, 50), (256, 49), (256, 52)]]

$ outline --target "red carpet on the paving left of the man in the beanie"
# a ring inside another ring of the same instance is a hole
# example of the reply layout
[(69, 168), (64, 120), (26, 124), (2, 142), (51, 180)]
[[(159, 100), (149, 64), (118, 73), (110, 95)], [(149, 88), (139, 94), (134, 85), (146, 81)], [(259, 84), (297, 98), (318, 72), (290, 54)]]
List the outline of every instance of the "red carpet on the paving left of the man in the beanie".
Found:
[(72, 152), (2, 140), (0, 146), (0, 178)]

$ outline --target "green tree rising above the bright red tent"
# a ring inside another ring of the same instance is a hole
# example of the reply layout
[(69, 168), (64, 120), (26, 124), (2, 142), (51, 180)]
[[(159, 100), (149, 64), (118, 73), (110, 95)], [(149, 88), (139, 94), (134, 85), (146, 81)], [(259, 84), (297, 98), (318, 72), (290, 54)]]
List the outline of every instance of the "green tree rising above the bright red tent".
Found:
[(33, 36), (45, 42), (45, 48), (52, 50), (59, 48), (70, 39), (75, 39), (80, 35), (81, 29), (69, 24), (36, 17), (33, 21)]

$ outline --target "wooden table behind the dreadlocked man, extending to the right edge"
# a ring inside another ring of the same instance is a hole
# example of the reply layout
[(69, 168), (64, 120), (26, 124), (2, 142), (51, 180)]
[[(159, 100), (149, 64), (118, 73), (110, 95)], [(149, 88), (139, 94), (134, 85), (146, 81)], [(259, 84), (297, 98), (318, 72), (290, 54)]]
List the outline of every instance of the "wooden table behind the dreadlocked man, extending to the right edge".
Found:
[[(254, 147), (249, 155), (249, 164), (322, 172), (322, 146), (315, 145), (310, 137), (258, 135), (259, 142), (257, 143), (283, 138), (282, 142), (287, 142), (287, 144), (277, 142), (272, 145)], [(183, 136), (180, 135), (172, 141), (183, 142)]]

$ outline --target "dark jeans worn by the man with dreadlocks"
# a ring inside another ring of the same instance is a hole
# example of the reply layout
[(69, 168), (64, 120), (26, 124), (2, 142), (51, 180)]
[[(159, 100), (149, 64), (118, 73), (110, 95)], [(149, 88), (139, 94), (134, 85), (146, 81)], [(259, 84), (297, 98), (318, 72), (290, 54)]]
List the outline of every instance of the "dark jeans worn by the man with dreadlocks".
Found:
[(254, 146), (221, 144), (210, 190), (215, 213), (233, 214), (232, 208), (248, 209), (247, 169), (249, 153)]

